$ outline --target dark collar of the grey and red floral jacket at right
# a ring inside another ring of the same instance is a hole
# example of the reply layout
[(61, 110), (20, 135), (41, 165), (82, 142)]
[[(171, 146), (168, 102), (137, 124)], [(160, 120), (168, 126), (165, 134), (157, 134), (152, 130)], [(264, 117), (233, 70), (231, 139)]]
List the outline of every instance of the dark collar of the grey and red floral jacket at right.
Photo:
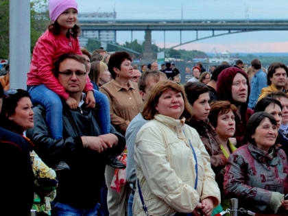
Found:
[(248, 143), (248, 150), (259, 163), (263, 163), (265, 165), (276, 166), (278, 164), (278, 149), (272, 146), (269, 149), (268, 154), (265, 154), (261, 151), (256, 145)]

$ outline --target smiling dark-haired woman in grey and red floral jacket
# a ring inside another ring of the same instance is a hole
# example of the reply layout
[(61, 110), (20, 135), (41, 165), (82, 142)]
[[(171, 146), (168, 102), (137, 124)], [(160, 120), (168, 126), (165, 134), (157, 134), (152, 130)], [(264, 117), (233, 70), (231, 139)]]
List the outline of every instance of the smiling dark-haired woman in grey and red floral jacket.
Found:
[(277, 122), (267, 112), (256, 112), (247, 123), (247, 143), (229, 158), (224, 192), (239, 199), (239, 207), (256, 213), (287, 213), (287, 156), (276, 147)]

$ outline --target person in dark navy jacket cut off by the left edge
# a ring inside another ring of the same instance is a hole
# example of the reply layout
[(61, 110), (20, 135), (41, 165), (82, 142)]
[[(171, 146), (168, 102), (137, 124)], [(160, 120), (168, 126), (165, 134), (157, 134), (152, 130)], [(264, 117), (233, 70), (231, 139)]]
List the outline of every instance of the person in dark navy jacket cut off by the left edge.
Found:
[[(3, 88), (0, 84), (0, 112)], [(0, 125), (1, 126), (1, 125)], [(1, 215), (29, 215), (34, 196), (31, 145), (22, 136), (0, 127)]]

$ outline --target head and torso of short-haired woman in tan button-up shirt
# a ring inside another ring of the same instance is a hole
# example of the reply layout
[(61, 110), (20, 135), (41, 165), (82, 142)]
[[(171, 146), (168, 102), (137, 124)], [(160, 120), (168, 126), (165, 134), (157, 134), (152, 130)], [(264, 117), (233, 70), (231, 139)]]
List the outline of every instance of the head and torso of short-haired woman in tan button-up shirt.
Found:
[(130, 80), (133, 77), (131, 63), (132, 59), (125, 51), (112, 54), (108, 63), (112, 81), (100, 88), (109, 99), (111, 123), (122, 134), (143, 105), (136, 82)]

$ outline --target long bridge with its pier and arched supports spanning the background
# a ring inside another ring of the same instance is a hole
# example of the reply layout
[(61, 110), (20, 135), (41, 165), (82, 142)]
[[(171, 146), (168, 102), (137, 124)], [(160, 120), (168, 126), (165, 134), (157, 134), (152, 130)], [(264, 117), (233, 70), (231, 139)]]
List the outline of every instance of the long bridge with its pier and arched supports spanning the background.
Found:
[[(82, 32), (97, 30), (100, 34), (102, 31), (114, 31), (115, 35), (117, 31), (130, 31), (131, 39), (132, 32), (145, 31), (145, 50), (143, 58), (147, 61), (152, 60), (153, 52), (151, 48), (152, 31), (164, 32), (164, 44), (165, 44), (165, 32), (177, 31), (180, 32), (180, 42), (178, 45), (169, 47), (173, 49), (182, 45), (193, 43), (197, 40), (204, 40), (206, 38), (213, 38), (217, 36), (224, 36), (227, 34), (237, 34), (242, 32), (254, 32), (254, 31), (287, 31), (288, 20), (281, 19), (228, 19), (228, 20), (167, 20), (167, 19), (149, 19), (149, 20), (128, 20), (128, 19), (79, 19)], [(193, 40), (186, 42), (182, 41), (182, 31), (194, 31), (196, 36)], [(199, 37), (198, 32), (211, 31), (210, 36)], [(224, 32), (223, 32), (224, 31)], [(116, 42), (116, 41), (115, 41)]]

